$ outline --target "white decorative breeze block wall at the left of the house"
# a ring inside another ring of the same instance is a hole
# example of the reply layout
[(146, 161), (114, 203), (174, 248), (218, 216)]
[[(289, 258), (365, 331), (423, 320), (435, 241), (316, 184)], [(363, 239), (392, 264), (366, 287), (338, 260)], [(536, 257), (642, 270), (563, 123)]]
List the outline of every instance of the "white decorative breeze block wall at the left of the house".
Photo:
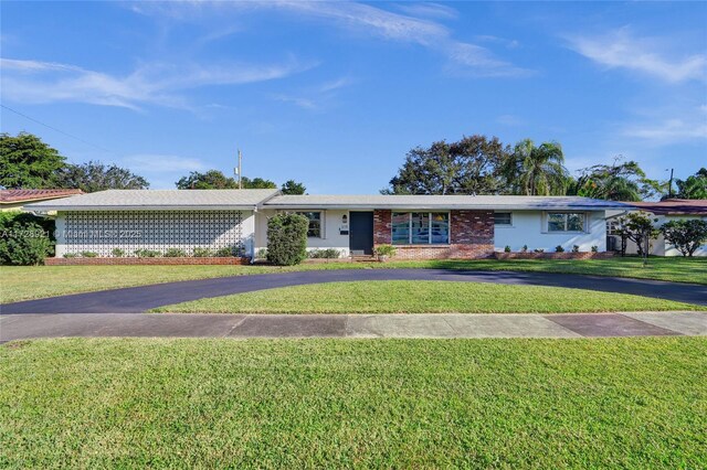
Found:
[(252, 229), (244, 229), (243, 211), (86, 211), (62, 215), (62, 254), (94, 252), (107, 257), (120, 248), (125, 256), (134, 256), (136, 249), (165, 253), (181, 248), (191, 255), (196, 247), (233, 247), (243, 255), (246, 238), (253, 236)]

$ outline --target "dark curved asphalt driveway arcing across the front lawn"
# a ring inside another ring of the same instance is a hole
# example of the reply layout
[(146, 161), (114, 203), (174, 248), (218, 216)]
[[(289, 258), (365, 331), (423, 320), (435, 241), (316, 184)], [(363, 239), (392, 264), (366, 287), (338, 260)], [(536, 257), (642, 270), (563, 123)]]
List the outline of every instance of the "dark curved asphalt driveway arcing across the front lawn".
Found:
[(76, 293), (4, 303), (0, 306), (0, 314), (140, 313), (156, 307), (208, 297), (307, 284), (359, 280), (450, 280), (552, 286), (604, 292), (633, 293), (703, 306), (707, 305), (707, 286), (648, 279), (550, 273), (462, 271), (449, 269), (341, 269), (233, 276)]

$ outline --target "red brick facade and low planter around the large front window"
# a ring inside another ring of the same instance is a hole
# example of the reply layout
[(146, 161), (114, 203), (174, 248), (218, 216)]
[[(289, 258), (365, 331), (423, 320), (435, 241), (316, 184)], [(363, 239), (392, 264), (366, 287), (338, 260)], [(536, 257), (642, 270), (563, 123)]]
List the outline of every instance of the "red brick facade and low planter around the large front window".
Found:
[[(373, 245), (392, 241), (392, 211), (373, 211)], [(494, 212), (451, 211), (449, 245), (395, 245), (395, 259), (489, 258), (494, 256)]]

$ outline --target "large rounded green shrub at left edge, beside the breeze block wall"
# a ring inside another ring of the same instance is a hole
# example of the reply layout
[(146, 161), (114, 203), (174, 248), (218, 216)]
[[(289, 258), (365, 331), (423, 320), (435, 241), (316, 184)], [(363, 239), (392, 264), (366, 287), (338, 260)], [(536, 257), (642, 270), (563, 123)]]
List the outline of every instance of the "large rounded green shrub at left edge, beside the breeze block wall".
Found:
[(23, 212), (0, 213), (0, 264), (41, 265), (54, 253), (54, 221)]

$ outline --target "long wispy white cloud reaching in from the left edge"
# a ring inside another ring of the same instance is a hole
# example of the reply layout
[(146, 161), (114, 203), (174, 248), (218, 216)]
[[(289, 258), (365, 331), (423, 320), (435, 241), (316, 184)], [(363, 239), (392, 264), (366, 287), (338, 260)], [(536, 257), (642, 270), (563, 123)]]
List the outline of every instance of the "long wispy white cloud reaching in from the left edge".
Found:
[(288, 58), (279, 64), (151, 64), (118, 76), (52, 62), (1, 58), (2, 99), (32, 104), (87, 103), (139, 110), (152, 104), (188, 108), (178, 92), (210, 85), (240, 85), (283, 78), (315, 64)]

